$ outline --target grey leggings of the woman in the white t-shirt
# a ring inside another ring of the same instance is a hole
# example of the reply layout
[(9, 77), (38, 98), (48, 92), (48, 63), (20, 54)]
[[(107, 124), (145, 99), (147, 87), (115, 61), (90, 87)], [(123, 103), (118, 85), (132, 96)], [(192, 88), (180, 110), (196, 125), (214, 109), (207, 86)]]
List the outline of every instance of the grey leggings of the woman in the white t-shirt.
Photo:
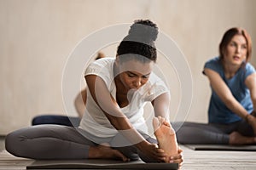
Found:
[[(81, 134), (83, 133), (83, 134)], [(9, 153), (26, 158), (44, 159), (87, 159), (90, 146), (97, 145), (84, 136), (88, 133), (76, 127), (61, 125), (38, 125), (25, 127), (9, 133), (5, 139), (5, 147)], [(143, 137), (156, 144), (155, 139), (146, 134)], [(102, 139), (101, 143), (119, 143), (124, 140), (121, 135), (112, 139)], [(131, 160), (141, 158), (145, 162), (154, 162), (143, 155), (135, 146), (113, 148), (119, 150)]]

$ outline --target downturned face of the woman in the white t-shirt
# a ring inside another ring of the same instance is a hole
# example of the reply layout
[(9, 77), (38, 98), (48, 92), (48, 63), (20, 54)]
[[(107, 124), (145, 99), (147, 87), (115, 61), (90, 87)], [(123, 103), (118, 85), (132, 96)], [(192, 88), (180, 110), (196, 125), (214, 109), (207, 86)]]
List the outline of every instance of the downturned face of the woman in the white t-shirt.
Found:
[(136, 59), (119, 63), (119, 80), (126, 90), (141, 88), (148, 82), (153, 66), (154, 61), (143, 63)]

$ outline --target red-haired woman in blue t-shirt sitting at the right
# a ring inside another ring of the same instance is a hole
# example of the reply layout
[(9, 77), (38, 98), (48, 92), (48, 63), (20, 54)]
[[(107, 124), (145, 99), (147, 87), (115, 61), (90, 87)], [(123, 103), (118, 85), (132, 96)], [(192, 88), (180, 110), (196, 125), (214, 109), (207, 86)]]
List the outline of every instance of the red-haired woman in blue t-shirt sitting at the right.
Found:
[(256, 73), (248, 61), (251, 38), (241, 28), (226, 31), (219, 56), (207, 61), (203, 74), (212, 96), (208, 123), (184, 122), (176, 128), (182, 144), (256, 144)]

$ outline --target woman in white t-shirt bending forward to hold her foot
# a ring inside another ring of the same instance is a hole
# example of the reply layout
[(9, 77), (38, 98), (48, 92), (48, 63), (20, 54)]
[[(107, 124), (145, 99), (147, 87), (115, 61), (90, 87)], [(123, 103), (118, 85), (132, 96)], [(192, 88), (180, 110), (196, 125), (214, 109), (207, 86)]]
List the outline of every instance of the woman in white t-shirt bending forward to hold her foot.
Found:
[[(21, 128), (6, 136), (6, 150), (32, 159), (141, 159), (181, 164), (181, 150), (167, 121), (170, 92), (153, 72), (157, 35), (158, 27), (152, 21), (136, 20), (119, 43), (115, 59), (98, 59), (87, 67), (86, 110), (79, 127)], [(148, 102), (154, 107), (156, 139), (148, 135), (143, 116)]]

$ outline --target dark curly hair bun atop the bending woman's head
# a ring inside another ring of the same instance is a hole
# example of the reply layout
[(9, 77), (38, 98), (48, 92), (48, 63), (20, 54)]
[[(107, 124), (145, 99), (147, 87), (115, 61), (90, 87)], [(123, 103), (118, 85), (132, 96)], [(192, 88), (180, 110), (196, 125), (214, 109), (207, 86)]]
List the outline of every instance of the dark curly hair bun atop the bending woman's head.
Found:
[(150, 20), (135, 20), (130, 27), (129, 34), (126, 38), (132, 41), (154, 42), (158, 35), (158, 27)]

